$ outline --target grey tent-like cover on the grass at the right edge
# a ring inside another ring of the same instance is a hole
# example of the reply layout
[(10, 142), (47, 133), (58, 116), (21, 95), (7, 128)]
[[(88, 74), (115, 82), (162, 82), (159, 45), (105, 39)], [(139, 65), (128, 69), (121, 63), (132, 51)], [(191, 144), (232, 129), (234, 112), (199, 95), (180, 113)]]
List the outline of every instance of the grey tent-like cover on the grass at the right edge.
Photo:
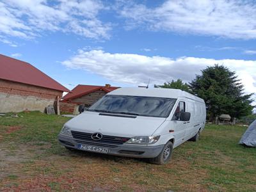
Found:
[(246, 132), (244, 132), (239, 144), (256, 147), (256, 120), (254, 120)]

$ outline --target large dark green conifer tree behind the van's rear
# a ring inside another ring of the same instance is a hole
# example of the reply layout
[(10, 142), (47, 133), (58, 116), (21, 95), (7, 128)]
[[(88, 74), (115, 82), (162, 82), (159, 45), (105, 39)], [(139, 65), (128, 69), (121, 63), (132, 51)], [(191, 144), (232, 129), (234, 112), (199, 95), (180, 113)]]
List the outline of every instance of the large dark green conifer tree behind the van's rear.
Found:
[(236, 118), (252, 114), (253, 100), (250, 98), (253, 93), (244, 95), (236, 72), (223, 65), (205, 68), (189, 86), (195, 95), (205, 100), (210, 120), (223, 113)]

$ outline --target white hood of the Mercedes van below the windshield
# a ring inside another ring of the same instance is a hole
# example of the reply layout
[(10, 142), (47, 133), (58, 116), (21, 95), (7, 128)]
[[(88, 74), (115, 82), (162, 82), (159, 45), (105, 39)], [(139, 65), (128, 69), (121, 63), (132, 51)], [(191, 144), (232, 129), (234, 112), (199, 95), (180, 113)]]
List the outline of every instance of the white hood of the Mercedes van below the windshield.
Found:
[(69, 120), (65, 126), (72, 131), (100, 132), (110, 136), (133, 137), (151, 136), (166, 118), (136, 116), (104, 116), (86, 111)]

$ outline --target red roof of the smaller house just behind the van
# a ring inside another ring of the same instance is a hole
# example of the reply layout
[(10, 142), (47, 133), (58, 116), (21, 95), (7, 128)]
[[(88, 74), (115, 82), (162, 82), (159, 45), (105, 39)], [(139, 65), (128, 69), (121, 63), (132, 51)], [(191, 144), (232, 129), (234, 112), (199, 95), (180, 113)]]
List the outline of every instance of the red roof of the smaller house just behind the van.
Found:
[(97, 90), (104, 90), (105, 92), (112, 92), (113, 90), (116, 90), (119, 87), (116, 86), (97, 86), (97, 85), (86, 85), (86, 84), (78, 84), (71, 93), (67, 93), (62, 99), (63, 100), (70, 100), (76, 97), (80, 97), (82, 95), (86, 95), (88, 93), (95, 92)]

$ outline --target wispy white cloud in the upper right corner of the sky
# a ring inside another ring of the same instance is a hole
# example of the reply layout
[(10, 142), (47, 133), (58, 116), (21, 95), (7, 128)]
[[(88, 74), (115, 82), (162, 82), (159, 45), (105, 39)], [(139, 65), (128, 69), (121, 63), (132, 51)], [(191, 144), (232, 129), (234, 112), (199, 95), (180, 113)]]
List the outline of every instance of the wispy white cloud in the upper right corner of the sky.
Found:
[(256, 4), (241, 0), (168, 0), (156, 8), (124, 5), (127, 28), (175, 31), (226, 38), (256, 38)]

